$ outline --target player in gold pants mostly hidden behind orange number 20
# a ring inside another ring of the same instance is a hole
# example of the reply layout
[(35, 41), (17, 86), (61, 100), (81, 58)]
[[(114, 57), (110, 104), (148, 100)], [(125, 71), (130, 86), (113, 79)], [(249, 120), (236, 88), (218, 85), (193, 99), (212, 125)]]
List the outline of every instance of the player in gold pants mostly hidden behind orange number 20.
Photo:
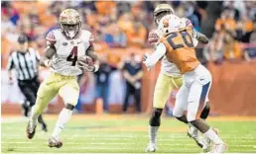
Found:
[[(154, 21), (155, 24), (158, 26), (160, 20), (166, 16), (174, 14), (174, 9), (168, 5), (168, 4), (160, 4), (156, 7), (154, 11)], [(192, 27), (192, 23), (189, 19), (183, 18), (181, 19), (181, 27)], [(159, 35), (158, 31), (153, 30), (149, 34), (148, 41), (153, 44), (157, 45), (159, 42)], [(197, 39), (202, 43), (207, 43), (208, 39), (198, 33), (193, 32), (193, 43), (194, 46), (197, 44)], [(147, 57), (145, 57), (146, 59)], [(167, 57), (164, 55), (162, 59), (162, 66), (161, 66), (161, 72), (159, 74), (155, 92), (154, 92), (154, 100), (153, 100), (153, 113), (149, 121), (149, 144), (146, 148), (147, 152), (153, 152), (156, 151), (156, 137), (158, 133), (159, 126), (161, 124), (161, 115), (163, 112), (163, 108), (166, 105), (166, 102), (168, 98), (170, 97), (170, 94), (175, 88), (180, 88), (183, 85), (183, 77), (181, 75), (180, 70), (177, 68), (177, 66), (173, 63), (168, 61)], [(207, 99), (207, 98), (206, 98)], [(204, 106), (204, 109), (201, 113), (201, 118), (205, 119), (208, 116), (209, 113), (209, 103), (208, 100), (206, 100), (206, 104)], [(198, 146), (202, 147), (203, 149), (207, 149), (209, 142), (205, 142), (201, 140), (198, 136), (197, 129), (193, 126), (190, 126), (188, 135), (191, 136)]]

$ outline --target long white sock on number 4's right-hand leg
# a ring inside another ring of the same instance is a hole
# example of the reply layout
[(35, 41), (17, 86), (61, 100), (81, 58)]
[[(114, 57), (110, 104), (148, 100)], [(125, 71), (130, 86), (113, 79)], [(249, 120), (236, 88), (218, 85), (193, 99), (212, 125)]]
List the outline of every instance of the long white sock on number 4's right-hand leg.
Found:
[(60, 133), (64, 129), (64, 125), (71, 118), (71, 116), (72, 116), (72, 111), (64, 108), (63, 111), (61, 112), (61, 114), (59, 115), (55, 130), (54, 130), (52, 136), (59, 137)]

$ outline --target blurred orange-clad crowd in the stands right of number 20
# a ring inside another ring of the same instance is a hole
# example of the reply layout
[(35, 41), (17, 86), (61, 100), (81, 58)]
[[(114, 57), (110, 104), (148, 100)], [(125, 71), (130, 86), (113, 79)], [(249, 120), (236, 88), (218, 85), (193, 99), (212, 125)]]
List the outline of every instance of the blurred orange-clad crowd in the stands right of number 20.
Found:
[(208, 60), (256, 58), (256, 2), (226, 1), (215, 22), (215, 32), (204, 48)]

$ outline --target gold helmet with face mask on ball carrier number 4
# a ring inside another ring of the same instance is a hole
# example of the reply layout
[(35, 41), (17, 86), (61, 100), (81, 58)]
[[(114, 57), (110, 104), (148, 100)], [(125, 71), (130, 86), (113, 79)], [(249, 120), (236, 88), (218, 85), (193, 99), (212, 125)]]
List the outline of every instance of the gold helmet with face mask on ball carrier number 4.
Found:
[(60, 26), (64, 35), (73, 39), (81, 29), (80, 16), (73, 9), (65, 9), (60, 15)]

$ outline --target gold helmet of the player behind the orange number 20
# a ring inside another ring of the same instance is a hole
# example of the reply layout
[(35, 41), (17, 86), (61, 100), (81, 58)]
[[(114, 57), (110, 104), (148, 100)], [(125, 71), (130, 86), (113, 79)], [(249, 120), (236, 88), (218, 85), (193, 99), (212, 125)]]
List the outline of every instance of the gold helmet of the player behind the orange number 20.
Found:
[(162, 17), (174, 14), (174, 9), (169, 4), (159, 4), (154, 10), (154, 21), (158, 25)]

